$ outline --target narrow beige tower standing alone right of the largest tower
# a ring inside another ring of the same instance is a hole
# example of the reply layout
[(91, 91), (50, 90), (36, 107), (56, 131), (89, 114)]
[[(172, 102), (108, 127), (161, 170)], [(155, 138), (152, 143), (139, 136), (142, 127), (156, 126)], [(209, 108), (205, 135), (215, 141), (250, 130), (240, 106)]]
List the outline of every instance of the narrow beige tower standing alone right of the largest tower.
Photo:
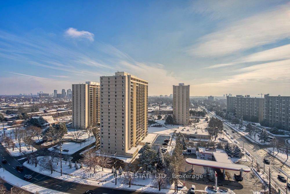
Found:
[(189, 124), (189, 85), (173, 85), (173, 119), (177, 124)]

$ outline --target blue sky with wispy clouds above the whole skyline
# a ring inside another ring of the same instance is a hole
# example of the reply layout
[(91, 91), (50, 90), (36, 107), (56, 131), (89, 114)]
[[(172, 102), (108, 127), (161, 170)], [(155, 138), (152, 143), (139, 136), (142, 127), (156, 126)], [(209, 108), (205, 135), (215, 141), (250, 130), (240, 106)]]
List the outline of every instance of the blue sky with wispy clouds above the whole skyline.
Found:
[(149, 95), (290, 95), (289, 1), (1, 1), (0, 94), (126, 71)]

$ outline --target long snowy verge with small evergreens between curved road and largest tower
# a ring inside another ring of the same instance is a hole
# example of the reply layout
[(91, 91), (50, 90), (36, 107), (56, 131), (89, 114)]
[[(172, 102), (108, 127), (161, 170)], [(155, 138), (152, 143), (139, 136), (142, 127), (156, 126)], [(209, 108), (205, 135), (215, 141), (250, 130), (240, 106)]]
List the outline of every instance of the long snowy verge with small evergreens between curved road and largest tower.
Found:
[[(142, 192), (149, 192), (149, 193), (174, 193), (174, 190), (169, 190), (168, 188), (174, 188), (172, 185), (167, 185), (167, 189), (163, 188), (161, 191), (158, 191), (158, 188), (153, 188), (154, 179), (153, 178), (134, 178), (134, 185), (131, 185), (131, 188), (128, 184), (121, 183), (121, 179), (117, 179), (117, 185), (115, 185), (115, 177), (113, 177), (112, 170), (104, 168), (102, 171), (101, 168), (97, 170), (96, 173), (93, 173), (92, 170), (89, 170), (86, 166), (84, 168), (75, 169), (74, 165), (73, 168), (69, 168), (68, 163), (65, 164), (64, 161), (62, 163), (62, 172), (63, 175), (60, 176), (60, 164), (57, 166), (56, 171), (53, 171), (50, 174), (50, 170), (41, 171), (39, 165), (35, 168), (35, 165), (28, 164), (27, 161), (23, 163), (26, 168), (30, 170), (39, 172), (49, 177), (54, 177), (57, 179), (61, 179), (68, 182), (74, 182), (78, 184), (85, 184), (85, 185), (92, 185), (92, 186), (100, 186), (100, 187), (107, 187), (107, 188), (120, 188), (124, 190), (130, 191), (142, 191)], [(154, 177), (154, 176), (153, 176)], [(105, 183), (106, 180), (106, 183)], [(138, 186), (137, 186), (138, 185)], [(184, 187), (182, 190), (187, 191), (187, 188)]]

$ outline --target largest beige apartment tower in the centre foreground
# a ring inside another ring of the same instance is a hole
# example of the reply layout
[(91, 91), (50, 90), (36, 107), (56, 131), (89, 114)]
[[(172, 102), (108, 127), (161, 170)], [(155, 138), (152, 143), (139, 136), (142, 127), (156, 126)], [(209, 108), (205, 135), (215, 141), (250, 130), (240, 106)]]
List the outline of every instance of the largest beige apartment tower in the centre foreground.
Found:
[(148, 81), (116, 72), (100, 84), (101, 151), (133, 157), (148, 134)]

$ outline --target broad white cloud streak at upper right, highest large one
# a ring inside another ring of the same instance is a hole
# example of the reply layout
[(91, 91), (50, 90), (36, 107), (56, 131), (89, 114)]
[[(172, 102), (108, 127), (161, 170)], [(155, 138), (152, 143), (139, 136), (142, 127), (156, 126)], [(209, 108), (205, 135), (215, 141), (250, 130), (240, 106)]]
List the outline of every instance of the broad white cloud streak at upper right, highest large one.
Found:
[(290, 4), (233, 22), (200, 38), (189, 53), (220, 56), (290, 37)]

